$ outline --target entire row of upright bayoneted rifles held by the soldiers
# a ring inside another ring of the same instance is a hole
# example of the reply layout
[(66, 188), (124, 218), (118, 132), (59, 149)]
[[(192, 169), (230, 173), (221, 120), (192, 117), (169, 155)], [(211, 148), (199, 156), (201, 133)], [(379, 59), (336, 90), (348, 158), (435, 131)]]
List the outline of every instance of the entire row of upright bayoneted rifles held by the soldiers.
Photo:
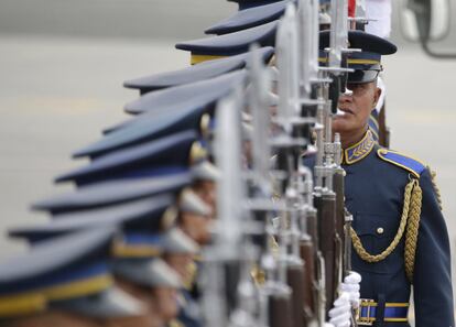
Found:
[[(290, 3), (275, 65), (252, 46), (248, 80), (217, 106), (217, 232), (198, 281), (206, 326), (325, 326), (350, 272), (351, 216), (332, 118), (349, 72), (344, 58), (356, 51), (348, 29), (362, 18), (349, 20), (347, 0), (332, 1), (328, 65), (319, 67), (318, 10), (318, 0)], [(311, 149), (314, 171), (303, 165)]]

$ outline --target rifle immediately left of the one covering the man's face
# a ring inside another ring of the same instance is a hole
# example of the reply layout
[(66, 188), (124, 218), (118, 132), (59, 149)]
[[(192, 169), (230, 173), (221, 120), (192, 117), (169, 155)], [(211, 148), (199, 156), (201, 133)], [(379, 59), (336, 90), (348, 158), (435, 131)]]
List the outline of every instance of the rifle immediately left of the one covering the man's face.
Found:
[[(307, 184), (306, 190), (306, 215), (307, 215), (307, 233), (303, 233), (302, 253), (307, 257), (306, 263), (308, 270), (313, 272), (314, 282), (313, 285), (313, 303), (310, 302), (308, 307), (313, 313), (316, 313), (316, 318), (319, 325), (325, 321), (327, 312), (326, 303), (332, 304), (332, 297), (329, 296), (330, 290), (333, 290), (332, 282), (332, 237), (322, 235), (322, 230), (332, 228), (332, 194), (323, 196), (323, 160), (325, 156), (325, 143), (323, 133), (328, 131), (326, 127), (327, 118), (324, 117), (324, 108), (327, 108), (327, 99), (325, 99), (321, 92), (323, 86), (332, 81), (326, 76), (319, 73), (318, 67), (318, 53), (319, 53), (319, 1), (315, 0), (302, 0), (300, 1), (300, 33), (301, 33), (301, 55), (302, 69), (301, 69), (301, 97), (303, 117), (314, 117), (314, 130), (317, 133), (317, 165), (315, 167), (315, 176), (317, 181), (316, 190), (313, 195), (310, 189), (313, 187), (312, 173), (306, 172), (303, 174), (304, 183)], [(306, 131), (308, 135), (311, 131)], [(327, 172), (325, 173), (327, 174)], [(329, 198), (328, 198), (329, 197)], [(323, 200), (323, 198), (325, 198)], [(328, 204), (326, 204), (328, 203)], [(315, 205), (315, 206), (314, 206)], [(315, 207), (318, 206), (316, 209)], [(311, 248), (314, 248), (314, 260), (308, 259), (312, 252)]]

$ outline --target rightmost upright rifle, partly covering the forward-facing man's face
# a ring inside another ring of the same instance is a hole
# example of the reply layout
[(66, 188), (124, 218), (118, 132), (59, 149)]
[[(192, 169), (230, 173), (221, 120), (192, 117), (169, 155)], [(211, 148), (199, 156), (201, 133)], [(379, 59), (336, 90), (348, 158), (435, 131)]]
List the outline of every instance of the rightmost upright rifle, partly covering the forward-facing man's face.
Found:
[[(359, 13), (362, 13), (361, 4)], [(344, 274), (348, 273), (351, 268), (349, 229), (352, 218), (344, 205), (345, 172), (340, 166), (340, 137), (336, 133), (333, 140), (332, 131), (332, 120), (337, 110), (339, 95), (346, 91), (347, 74), (352, 72), (347, 68), (347, 54), (359, 51), (347, 48), (349, 26), (347, 9), (346, 0), (332, 0), (329, 48), (325, 50), (328, 53), (328, 66), (321, 68), (321, 74), (332, 81), (321, 84), (318, 89), (319, 98), (326, 103), (319, 106), (317, 115), (319, 122), (316, 126), (317, 148), (323, 149), (323, 153), (318, 153), (315, 166), (317, 176), (315, 206), (322, 219), (319, 231), (330, 233), (328, 239), (321, 240), (327, 272), (326, 298), (328, 304), (337, 297), (338, 285)], [(362, 23), (365, 21), (365, 18), (351, 19), (351, 22)]]

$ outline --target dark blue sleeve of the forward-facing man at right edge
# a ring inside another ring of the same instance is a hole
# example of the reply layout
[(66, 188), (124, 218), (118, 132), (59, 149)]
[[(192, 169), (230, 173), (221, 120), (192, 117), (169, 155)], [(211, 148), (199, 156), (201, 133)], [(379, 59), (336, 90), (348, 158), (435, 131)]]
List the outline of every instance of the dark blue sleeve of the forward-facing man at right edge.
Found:
[(427, 170), (420, 185), (423, 203), (413, 277), (416, 327), (455, 326), (448, 232)]

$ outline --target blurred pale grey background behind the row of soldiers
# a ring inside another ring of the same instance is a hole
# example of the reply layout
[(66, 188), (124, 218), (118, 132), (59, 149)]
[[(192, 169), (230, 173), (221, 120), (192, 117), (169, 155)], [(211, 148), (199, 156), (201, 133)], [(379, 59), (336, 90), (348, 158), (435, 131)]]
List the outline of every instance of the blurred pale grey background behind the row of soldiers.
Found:
[[(70, 153), (127, 118), (122, 107), (138, 95), (122, 81), (188, 65), (174, 44), (203, 37), (236, 8), (224, 0), (0, 0), (0, 259), (24, 250), (7, 240), (8, 227), (47, 219), (31, 203), (70, 189), (53, 185), (85, 164)], [(400, 51), (384, 58), (391, 148), (437, 171), (455, 244), (456, 59), (427, 57), (404, 40), (398, 17), (394, 8)], [(444, 42), (454, 51), (455, 23)]]

